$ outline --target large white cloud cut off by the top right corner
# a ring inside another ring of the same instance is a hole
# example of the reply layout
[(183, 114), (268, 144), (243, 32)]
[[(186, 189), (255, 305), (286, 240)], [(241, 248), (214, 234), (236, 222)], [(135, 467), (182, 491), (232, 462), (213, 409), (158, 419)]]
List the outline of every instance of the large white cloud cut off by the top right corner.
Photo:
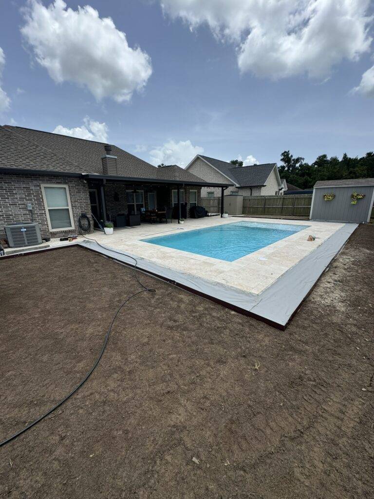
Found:
[(368, 51), (370, 0), (162, 0), (191, 28), (206, 23), (234, 42), (241, 71), (272, 79), (329, 77), (343, 59)]

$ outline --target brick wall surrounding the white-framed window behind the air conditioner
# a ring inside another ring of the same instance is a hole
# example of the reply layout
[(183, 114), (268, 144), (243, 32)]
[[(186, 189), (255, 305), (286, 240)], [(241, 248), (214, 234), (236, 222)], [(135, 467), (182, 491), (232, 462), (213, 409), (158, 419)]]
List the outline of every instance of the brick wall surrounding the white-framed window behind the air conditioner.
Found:
[[(64, 184), (69, 187), (74, 229), (49, 231), (41, 185)], [(32, 213), (26, 204), (31, 203)], [(78, 234), (81, 213), (91, 213), (88, 186), (84, 180), (72, 177), (44, 175), (0, 175), (0, 239), (5, 238), (4, 225), (14, 222), (36, 222), (42, 237), (60, 238)], [(91, 231), (92, 231), (91, 219)]]

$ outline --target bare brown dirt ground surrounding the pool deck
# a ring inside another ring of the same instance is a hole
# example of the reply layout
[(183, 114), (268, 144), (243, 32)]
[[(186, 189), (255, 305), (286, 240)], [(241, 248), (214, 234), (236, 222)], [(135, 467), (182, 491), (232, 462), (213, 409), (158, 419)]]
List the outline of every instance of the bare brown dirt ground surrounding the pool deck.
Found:
[[(140, 274), (157, 293), (88, 382), (0, 448), (0, 497), (373, 498), (373, 249), (361, 226), (284, 332)], [(80, 248), (0, 275), (2, 440), (77, 384), (140, 286)]]

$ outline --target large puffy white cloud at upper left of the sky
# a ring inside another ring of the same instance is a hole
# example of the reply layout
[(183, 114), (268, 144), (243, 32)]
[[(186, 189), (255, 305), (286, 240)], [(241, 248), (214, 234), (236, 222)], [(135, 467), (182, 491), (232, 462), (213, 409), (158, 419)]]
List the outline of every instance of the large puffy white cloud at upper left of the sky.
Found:
[(63, 0), (48, 7), (28, 0), (23, 15), (21, 33), (56, 83), (72, 81), (87, 87), (97, 100), (109, 96), (123, 102), (151, 76), (148, 54), (129, 47), (113, 20), (101, 19), (89, 5), (73, 10)]

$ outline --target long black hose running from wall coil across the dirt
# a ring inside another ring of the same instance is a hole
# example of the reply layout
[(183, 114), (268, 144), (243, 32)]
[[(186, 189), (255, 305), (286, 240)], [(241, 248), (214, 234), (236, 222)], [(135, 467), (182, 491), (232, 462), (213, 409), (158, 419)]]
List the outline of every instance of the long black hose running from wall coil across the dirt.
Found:
[[(91, 228), (91, 222), (89, 220), (89, 218), (87, 217), (86, 214), (82, 214), (81, 217), (84, 215), (83, 219), (84, 220), (88, 220), (89, 224), (88, 224), (88, 229)], [(82, 223), (81, 224), (81, 217), (79, 217), (79, 232), (80, 234), (83, 236), (81, 230), (86, 230), (86, 229), (83, 229), (82, 226), (84, 226), (84, 224)], [(82, 220), (83, 220), (82, 219)], [(87, 225), (87, 224), (86, 224)], [(86, 236), (84, 236), (86, 237)], [(90, 238), (87, 238), (87, 239), (90, 239)], [(102, 248), (108, 250), (109, 248), (105, 248), (104, 246), (100, 245), (100, 243), (98, 243), (95, 239), (91, 239), (91, 241), (95, 241), (95, 243), (97, 243), (99, 246), (101, 246)], [(114, 250), (111, 250), (111, 251), (114, 251)], [(115, 253), (120, 253), (119, 251), (114, 251)], [(125, 254), (125, 253), (120, 253), (120, 254)], [(101, 360), (101, 357), (103, 356), (103, 353), (106, 349), (106, 346), (107, 346), (107, 343), (108, 343), (108, 340), (109, 340), (109, 336), (110, 336), (110, 333), (111, 333), (111, 330), (112, 330), (112, 327), (113, 327), (113, 324), (114, 324), (114, 321), (116, 320), (117, 318), (117, 315), (120, 313), (120, 311), (122, 310), (122, 308), (124, 307), (124, 305), (126, 305), (126, 303), (131, 300), (131, 298), (133, 298), (134, 296), (136, 296), (137, 294), (140, 294), (140, 293), (144, 293), (145, 291), (151, 291), (153, 293), (156, 292), (156, 289), (152, 289), (152, 288), (148, 288), (147, 286), (145, 286), (144, 284), (142, 284), (142, 282), (140, 282), (139, 278), (138, 278), (138, 275), (136, 273), (136, 265), (138, 263), (138, 260), (136, 258), (134, 258), (133, 256), (131, 255), (126, 255), (126, 256), (129, 256), (130, 258), (132, 258), (133, 260), (135, 260), (135, 266), (134, 266), (134, 271), (135, 271), (135, 277), (137, 279), (137, 281), (139, 282), (139, 284), (144, 288), (144, 289), (141, 289), (140, 291), (137, 291), (136, 293), (133, 293), (131, 296), (129, 296), (128, 298), (126, 298), (125, 301), (122, 302), (122, 304), (117, 308), (117, 311), (116, 313), (114, 314), (114, 317), (112, 319), (112, 322), (110, 323), (110, 326), (108, 328), (108, 331), (105, 335), (105, 338), (104, 338), (104, 343), (103, 343), (103, 346), (101, 348), (101, 351), (99, 353), (99, 356), (97, 357), (97, 359), (95, 360), (93, 366), (91, 367), (91, 369), (88, 371), (88, 373), (85, 375), (85, 377), (82, 379), (82, 381), (74, 388), (74, 390), (72, 390), (68, 395), (66, 395), (66, 397), (64, 397), (60, 402), (58, 402), (58, 404), (56, 404), (54, 407), (52, 407), (51, 409), (49, 409), (45, 414), (43, 414), (43, 416), (40, 416), (39, 418), (35, 419), (35, 421), (33, 421), (32, 423), (30, 423), (29, 425), (27, 425), (25, 428), (22, 428), (22, 430), (19, 430), (19, 432), (17, 433), (14, 433), (14, 435), (12, 435), (11, 437), (8, 437), (7, 439), (3, 440), (2, 442), (0, 442), (0, 447), (2, 447), (3, 445), (6, 445), (8, 444), (9, 442), (11, 442), (12, 440), (16, 439), (17, 437), (19, 437), (20, 435), (22, 435), (23, 433), (25, 433), (27, 430), (29, 430), (30, 428), (32, 428), (33, 426), (35, 426), (37, 423), (39, 423), (40, 421), (42, 421), (44, 418), (46, 418), (47, 416), (49, 416), (49, 414), (51, 414), (53, 411), (55, 411), (58, 407), (60, 407), (64, 402), (66, 402), (72, 395), (74, 395), (74, 393), (79, 390), (79, 388), (88, 380), (88, 378), (91, 376), (91, 374), (94, 372), (94, 370), (96, 369), (97, 365), (99, 364), (100, 360)]]

